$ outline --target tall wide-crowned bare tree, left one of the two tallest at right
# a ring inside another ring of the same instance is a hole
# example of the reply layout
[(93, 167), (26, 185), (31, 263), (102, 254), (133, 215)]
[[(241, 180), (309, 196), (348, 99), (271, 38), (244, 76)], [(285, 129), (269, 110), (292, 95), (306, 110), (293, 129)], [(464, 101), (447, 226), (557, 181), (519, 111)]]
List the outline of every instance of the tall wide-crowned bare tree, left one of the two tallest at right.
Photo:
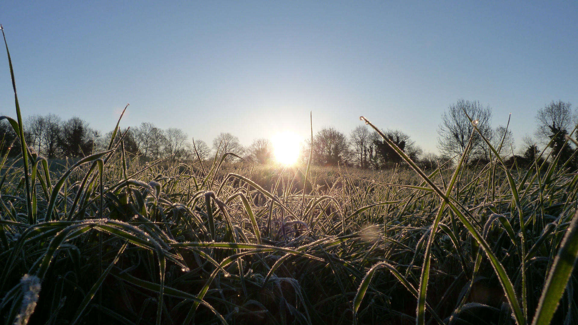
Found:
[[(448, 156), (461, 155), (468, 141), (474, 125), (466, 116), (467, 113), (474, 121), (477, 120), (477, 129), (487, 139), (492, 136), (492, 109), (490, 106), (483, 107), (480, 102), (459, 99), (457, 103), (450, 104), (448, 110), (442, 115), (442, 124), (438, 127), (438, 148), (442, 154)], [(486, 155), (486, 148), (479, 133), (473, 133), (472, 156), (479, 158)]]

